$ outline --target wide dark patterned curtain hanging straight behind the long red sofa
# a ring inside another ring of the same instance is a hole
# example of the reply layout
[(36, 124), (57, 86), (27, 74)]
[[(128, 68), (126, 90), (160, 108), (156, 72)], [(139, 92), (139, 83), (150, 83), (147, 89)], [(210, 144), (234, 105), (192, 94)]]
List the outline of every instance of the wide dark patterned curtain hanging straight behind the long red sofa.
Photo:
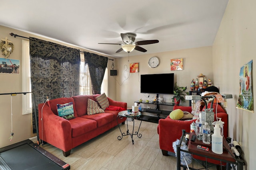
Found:
[[(79, 95), (80, 51), (30, 37), (31, 90), (35, 103)], [(38, 108), (37, 120), (38, 120)], [(36, 133), (33, 115), (33, 133)]]

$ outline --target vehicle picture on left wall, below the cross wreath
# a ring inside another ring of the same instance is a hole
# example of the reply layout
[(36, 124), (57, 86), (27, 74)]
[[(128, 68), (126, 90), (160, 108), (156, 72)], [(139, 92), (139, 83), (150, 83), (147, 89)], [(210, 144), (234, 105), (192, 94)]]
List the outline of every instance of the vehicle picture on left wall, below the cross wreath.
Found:
[(0, 73), (20, 74), (20, 61), (0, 58)]

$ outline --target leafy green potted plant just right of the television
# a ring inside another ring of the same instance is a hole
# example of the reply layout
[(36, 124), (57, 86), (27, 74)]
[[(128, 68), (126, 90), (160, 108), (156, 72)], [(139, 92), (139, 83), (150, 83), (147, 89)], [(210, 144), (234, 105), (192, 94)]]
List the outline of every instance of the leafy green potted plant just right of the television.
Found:
[(187, 87), (180, 87), (177, 85), (177, 82), (174, 85), (174, 96), (172, 98), (172, 102), (175, 103), (175, 105), (179, 105), (180, 101), (185, 101), (185, 96), (188, 95), (188, 92), (185, 92), (187, 90)]

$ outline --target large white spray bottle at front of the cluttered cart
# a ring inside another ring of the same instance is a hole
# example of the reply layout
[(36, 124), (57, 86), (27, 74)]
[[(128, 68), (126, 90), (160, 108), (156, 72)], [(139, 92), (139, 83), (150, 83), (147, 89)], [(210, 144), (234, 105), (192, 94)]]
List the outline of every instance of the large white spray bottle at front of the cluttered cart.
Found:
[(216, 154), (223, 153), (223, 137), (220, 135), (220, 121), (216, 121), (214, 126), (214, 133), (212, 134), (212, 152)]

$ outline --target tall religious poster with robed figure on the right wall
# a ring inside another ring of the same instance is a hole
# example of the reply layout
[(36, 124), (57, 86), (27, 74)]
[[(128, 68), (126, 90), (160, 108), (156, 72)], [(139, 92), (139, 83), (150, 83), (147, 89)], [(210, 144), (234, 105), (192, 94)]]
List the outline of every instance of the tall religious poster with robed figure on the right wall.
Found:
[(252, 93), (252, 60), (240, 68), (240, 90), (236, 108), (254, 113)]

